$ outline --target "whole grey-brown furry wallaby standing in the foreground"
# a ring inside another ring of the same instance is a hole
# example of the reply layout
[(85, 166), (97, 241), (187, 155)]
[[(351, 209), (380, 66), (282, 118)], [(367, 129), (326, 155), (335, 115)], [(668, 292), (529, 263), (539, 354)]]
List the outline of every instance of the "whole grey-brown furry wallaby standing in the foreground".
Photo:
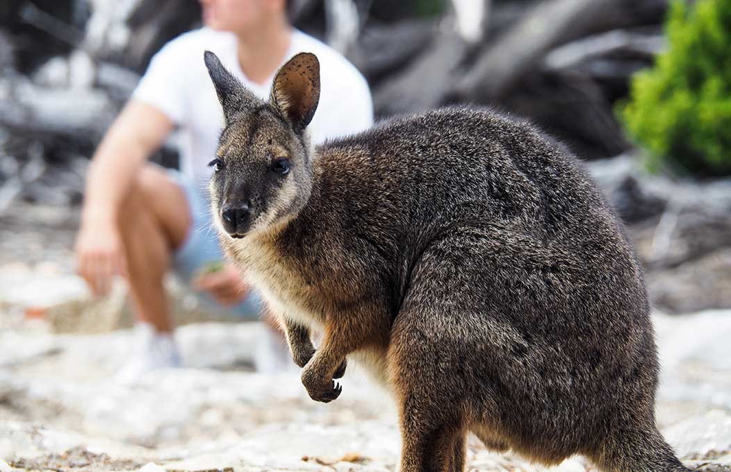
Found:
[(225, 123), (215, 224), (310, 397), (335, 400), (362, 362), (397, 403), (401, 472), (462, 471), (469, 432), (547, 465), (688, 470), (655, 426), (640, 264), (566, 148), (466, 107), (313, 148), (317, 57), (282, 66), (268, 102), (205, 64)]

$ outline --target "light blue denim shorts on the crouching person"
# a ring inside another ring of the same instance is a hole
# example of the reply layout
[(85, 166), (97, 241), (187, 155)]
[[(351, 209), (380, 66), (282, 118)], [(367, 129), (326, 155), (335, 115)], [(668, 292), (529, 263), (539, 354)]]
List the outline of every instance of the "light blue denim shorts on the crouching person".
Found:
[(211, 305), (211, 308), (215, 308), (219, 313), (227, 313), (239, 319), (259, 319), (263, 303), (260, 294), (253, 290), (238, 305), (224, 307), (208, 292), (200, 292), (192, 287), (192, 281), (202, 269), (208, 264), (223, 262), (225, 257), (219, 244), (217, 230), (213, 227), (208, 189), (197, 185), (191, 178), (177, 170), (168, 172), (170, 178), (183, 189), (192, 219), (192, 228), (189, 229), (181, 247), (173, 254), (173, 271), (199, 295), (203, 302)]

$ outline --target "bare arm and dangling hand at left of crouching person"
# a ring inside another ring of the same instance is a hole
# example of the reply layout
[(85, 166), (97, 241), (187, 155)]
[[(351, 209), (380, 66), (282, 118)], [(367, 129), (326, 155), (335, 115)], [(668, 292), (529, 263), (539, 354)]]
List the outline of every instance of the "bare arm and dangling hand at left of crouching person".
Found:
[(140, 166), (173, 129), (156, 107), (134, 99), (107, 131), (86, 176), (81, 228), (76, 240), (77, 270), (94, 294), (105, 294), (124, 270), (119, 210)]

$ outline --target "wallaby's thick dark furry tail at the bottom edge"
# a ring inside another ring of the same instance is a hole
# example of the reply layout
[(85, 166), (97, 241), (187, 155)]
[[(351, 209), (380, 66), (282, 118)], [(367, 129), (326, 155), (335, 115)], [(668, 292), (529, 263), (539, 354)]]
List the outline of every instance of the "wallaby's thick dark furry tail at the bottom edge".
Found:
[(602, 472), (689, 472), (658, 430), (622, 431), (591, 459)]

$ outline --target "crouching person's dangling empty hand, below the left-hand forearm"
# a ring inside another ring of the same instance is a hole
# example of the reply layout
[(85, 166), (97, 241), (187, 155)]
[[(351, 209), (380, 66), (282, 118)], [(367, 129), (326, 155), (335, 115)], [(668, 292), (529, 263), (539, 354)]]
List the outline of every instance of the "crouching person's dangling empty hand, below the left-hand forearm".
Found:
[(82, 223), (75, 251), (77, 272), (97, 297), (109, 293), (114, 275), (125, 273), (124, 246), (113, 222)]

